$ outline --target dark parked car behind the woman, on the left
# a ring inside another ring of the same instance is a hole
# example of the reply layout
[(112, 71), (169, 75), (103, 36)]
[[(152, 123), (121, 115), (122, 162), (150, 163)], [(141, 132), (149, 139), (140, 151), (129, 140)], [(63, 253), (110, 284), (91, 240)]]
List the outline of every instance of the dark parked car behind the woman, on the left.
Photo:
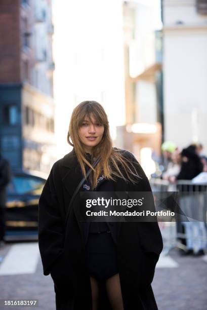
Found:
[(38, 201), (47, 175), (13, 171), (7, 186), (6, 241), (37, 240)]

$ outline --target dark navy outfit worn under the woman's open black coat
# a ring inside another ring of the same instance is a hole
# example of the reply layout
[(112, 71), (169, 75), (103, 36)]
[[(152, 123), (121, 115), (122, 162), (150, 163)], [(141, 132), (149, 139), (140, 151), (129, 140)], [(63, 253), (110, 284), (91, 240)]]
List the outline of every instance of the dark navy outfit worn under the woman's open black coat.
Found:
[[(89, 158), (88, 158), (89, 160)], [(86, 170), (88, 171), (88, 166)], [(91, 190), (87, 180), (82, 190)], [(97, 191), (113, 191), (113, 182), (104, 176), (98, 178)], [(117, 265), (117, 223), (116, 222), (84, 222), (84, 237), (86, 245), (86, 264), (90, 276), (99, 282), (118, 273)]]

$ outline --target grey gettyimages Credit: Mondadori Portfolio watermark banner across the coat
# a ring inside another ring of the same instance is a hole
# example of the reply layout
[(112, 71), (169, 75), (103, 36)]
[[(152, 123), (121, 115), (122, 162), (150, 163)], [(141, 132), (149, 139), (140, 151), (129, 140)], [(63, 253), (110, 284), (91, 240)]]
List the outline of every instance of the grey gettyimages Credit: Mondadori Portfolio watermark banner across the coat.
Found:
[(206, 221), (206, 193), (178, 191), (80, 192), (82, 222)]

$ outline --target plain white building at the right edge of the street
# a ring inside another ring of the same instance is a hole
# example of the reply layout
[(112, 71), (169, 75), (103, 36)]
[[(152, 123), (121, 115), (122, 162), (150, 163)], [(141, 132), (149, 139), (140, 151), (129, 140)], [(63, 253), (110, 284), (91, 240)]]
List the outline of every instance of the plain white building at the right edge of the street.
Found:
[(207, 1), (163, 0), (165, 140), (207, 149)]

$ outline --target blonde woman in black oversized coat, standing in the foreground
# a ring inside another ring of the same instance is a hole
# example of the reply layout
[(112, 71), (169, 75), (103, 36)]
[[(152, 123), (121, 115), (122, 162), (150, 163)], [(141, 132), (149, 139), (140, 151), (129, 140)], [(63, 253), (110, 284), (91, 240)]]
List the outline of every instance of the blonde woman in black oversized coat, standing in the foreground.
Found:
[(73, 150), (53, 165), (39, 199), (39, 250), (56, 308), (157, 309), (151, 288), (162, 250), (157, 222), (80, 223), (79, 195), (73, 196), (84, 176), (78, 192), (151, 191), (146, 175), (130, 152), (112, 147), (96, 101), (75, 107), (68, 143)]

